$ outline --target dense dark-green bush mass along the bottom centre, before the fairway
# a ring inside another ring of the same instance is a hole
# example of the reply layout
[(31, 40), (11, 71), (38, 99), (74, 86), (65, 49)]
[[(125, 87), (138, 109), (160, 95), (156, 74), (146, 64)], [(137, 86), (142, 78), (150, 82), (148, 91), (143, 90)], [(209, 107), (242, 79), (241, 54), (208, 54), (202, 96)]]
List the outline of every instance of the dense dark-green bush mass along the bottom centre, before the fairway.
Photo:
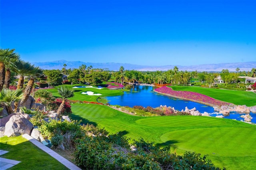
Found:
[[(128, 139), (119, 134), (85, 136), (75, 151), (78, 166), (84, 169), (141, 169), (141, 170), (219, 170), (206, 156), (186, 152), (183, 156), (170, 153), (170, 147), (161, 149), (143, 139), (134, 141), (131, 150)], [(225, 169), (225, 168), (224, 168)]]

